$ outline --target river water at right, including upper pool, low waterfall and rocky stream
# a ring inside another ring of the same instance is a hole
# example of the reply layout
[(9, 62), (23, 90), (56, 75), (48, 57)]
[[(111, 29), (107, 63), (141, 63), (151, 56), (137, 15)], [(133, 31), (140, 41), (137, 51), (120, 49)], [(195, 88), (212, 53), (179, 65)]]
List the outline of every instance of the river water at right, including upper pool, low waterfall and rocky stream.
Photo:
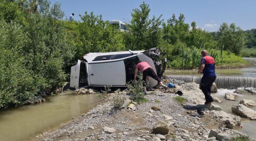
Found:
[[(250, 99), (256, 101), (255, 95), (237, 95), (235, 101), (226, 100), (224, 98), (226, 92), (233, 93), (234, 90), (239, 87), (256, 88), (256, 58), (244, 59), (250, 63), (250, 68), (216, 70), (217, 78), (215, 83), (217, 84), (218, 92), (211, 95), (222, 100), (223, 103), (214, 102), (214, 104), (220, 105), (225, 112), (230, 114), (234, 114), (231, 110), (232, 105), (239, 104), (241, 99)], [(166, 70), (165, 74), (170, 76), (172, 79), (195, 83), (200, 83), (200, 79), (202, 77), (202, 74), (198, 74), (197, 70)], [(249, 108), (256, 111), (256, 107)], [(243, 128), (237, 127), (236, 129), (256, 139), (256, 121), (242, 117), (241, 123), (243, 123)]]

